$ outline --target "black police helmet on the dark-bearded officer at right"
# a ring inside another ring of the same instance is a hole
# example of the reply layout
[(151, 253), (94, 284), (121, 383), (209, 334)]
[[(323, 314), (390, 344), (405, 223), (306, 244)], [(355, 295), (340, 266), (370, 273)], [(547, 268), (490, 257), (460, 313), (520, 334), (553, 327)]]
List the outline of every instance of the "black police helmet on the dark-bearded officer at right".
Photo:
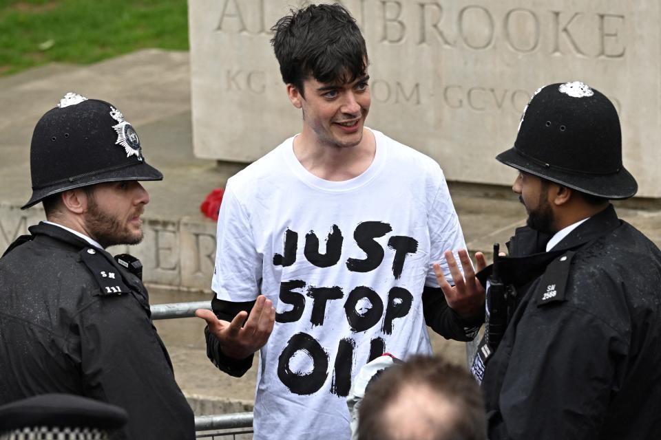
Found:
[(578, 81), (539, 89), (523, 111), (514, 147), (496, 159), (606, 199), (627, 199), (638, 190), (622, 166), (618, 112), (606, 96)]

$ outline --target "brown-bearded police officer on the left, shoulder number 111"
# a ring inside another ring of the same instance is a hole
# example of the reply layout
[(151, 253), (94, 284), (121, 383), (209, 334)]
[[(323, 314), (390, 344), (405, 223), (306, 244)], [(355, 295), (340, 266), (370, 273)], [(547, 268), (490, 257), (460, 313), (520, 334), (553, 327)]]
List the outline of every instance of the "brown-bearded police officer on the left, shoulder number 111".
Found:
[(0, 259), (0, 404), (69, 393), (124, 408), (114, 439), (192, 439), (193, 414), (151, 323), (141, 265), (110, 245), (143, 238), (140, 180), (162, 174), (112, 104), (67, 94), (36, 124), (32, 198), (48, 221)]

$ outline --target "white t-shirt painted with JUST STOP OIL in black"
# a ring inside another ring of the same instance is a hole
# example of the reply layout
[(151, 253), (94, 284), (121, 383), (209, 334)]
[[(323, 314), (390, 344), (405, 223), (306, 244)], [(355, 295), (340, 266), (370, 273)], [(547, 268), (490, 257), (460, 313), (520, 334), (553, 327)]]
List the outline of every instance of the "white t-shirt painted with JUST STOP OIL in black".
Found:
[(255, 439), (349, 439), (346, 395), (384, 352), (431, 351), (424, 285), (465, 248), (439, 165), (373, 131), (370, 167), (346, 181), (309, 173), (293, 137), (227, 182), (212, 289), (264, 294), (275, 328), (260, 353)]

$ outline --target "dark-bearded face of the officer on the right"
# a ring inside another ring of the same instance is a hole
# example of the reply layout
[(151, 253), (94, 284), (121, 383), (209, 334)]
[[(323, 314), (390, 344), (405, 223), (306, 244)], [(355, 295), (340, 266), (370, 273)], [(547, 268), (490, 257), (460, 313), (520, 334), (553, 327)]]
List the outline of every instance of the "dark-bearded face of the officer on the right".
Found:
[(549, 181), (521, 171), (512, 185), (512, 190), (518, 194), (518, 201), (525, 206), (525, 212), (528, 214), (526, 224), (530, 228), (540, 232), (557, 232), (548, 198)]

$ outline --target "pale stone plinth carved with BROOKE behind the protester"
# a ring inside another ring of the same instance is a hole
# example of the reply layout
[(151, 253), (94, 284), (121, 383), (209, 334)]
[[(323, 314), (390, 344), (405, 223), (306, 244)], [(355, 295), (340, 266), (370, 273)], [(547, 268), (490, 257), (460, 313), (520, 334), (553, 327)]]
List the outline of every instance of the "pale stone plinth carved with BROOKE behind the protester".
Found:
[[(301, 129), (269, 43), (287, 0), (189, 1), (198, 157), (251, 162)], [(345, 0), (366, 36), (368, 126), (436, 159), (449, 180), (511, 184), (494, 161), (532, 93), (583, 80), (613, 100), (642, 197), (661, 150), (660, 3)]]

